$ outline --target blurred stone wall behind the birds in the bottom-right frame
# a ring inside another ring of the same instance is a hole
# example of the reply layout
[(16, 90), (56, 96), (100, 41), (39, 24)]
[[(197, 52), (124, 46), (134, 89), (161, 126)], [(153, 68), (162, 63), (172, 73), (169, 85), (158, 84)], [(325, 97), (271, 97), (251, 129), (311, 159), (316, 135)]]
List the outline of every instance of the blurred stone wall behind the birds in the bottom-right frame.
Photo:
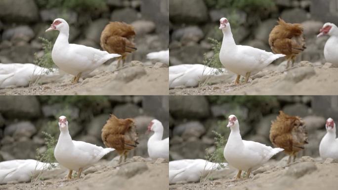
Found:
[[(326, 134), (326, 119), (338, 119), (338, 96), (170, 96), (169, 158), (205, 159), (216, 150), (212, 131), (222, 135), (225, 142), (228, 139), (230, 129), (226, 125), (231, 114), (239, 120), (243, 140), (272, 146), (271, 121), (276, 120), (280, 110), (300, 116), (305, 122), (309, 144), (297, 157), (318, 157), (319, 143)], [(220, 154), (222, 157), (223, 150)], [(279, 154), (278, 159), (285, 155)]]

